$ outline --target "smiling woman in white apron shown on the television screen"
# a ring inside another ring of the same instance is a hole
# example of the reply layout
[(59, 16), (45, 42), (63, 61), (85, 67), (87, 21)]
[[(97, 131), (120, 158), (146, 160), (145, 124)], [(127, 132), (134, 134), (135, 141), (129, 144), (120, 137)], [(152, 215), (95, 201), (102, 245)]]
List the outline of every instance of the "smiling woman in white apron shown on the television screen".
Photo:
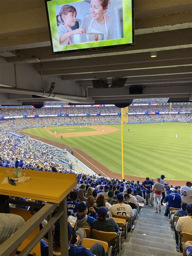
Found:
[(90, 15), (87, 15), (80, 28), (85, 33), (102, 33), (103, 40), (113, 39), (113, 23), (111, 17), (106, 15), (110, 0), (91, 0)]

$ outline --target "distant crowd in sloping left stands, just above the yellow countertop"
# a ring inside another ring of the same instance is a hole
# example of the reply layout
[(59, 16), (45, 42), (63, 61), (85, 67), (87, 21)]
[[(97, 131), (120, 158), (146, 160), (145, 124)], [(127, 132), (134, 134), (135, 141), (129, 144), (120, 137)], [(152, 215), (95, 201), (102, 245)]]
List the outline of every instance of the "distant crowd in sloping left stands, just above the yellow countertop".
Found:
[(63, 149), (28, 136), (18, 138), (8, 133), (0, 136), (0, 166), (37, 171), (56, 169), (62, 173), (76, 173)]

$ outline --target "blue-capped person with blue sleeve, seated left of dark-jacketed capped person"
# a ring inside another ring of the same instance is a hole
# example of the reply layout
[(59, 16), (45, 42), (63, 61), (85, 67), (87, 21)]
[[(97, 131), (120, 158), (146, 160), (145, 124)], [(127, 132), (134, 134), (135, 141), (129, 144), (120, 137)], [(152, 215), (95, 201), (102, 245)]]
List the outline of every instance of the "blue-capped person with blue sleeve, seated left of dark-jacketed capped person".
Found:
[(81, 202), (77, 205), (77, 213), (71, 215), (77, 218), (77, 228), (92, 228), (94, 220), (97, 218), (97, 213), (93, 207), (89, 208), (93, 213), (93, 217), (87, 215), (87, 205)]

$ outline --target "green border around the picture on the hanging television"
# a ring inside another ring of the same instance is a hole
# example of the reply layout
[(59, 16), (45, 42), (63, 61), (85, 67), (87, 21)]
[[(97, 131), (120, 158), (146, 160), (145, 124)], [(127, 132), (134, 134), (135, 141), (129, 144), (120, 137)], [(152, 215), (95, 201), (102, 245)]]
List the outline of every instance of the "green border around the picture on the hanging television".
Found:
[(94, 51), (100, 49), (111, 49), (134, 45), (134, 6), (133, 0), (122, 0), (123, 4), (123, 30), (124, 38), (110, 39), (105, 41), (78, 43), (71, 45), (60, 45), (58, 26), (56, 21), (55, 6), (83, 2), (84, 0), (45, 0), (49, 35), (51, 40), (52, 53), (71, 53), (79, 51)]

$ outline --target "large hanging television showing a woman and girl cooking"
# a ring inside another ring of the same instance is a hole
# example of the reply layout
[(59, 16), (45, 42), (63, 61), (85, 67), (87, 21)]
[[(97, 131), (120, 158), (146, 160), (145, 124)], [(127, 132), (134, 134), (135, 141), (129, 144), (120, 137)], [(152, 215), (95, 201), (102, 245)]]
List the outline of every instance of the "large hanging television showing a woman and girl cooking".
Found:
[(134, 44), (133, 0), (45, 0), (52, 51)]

